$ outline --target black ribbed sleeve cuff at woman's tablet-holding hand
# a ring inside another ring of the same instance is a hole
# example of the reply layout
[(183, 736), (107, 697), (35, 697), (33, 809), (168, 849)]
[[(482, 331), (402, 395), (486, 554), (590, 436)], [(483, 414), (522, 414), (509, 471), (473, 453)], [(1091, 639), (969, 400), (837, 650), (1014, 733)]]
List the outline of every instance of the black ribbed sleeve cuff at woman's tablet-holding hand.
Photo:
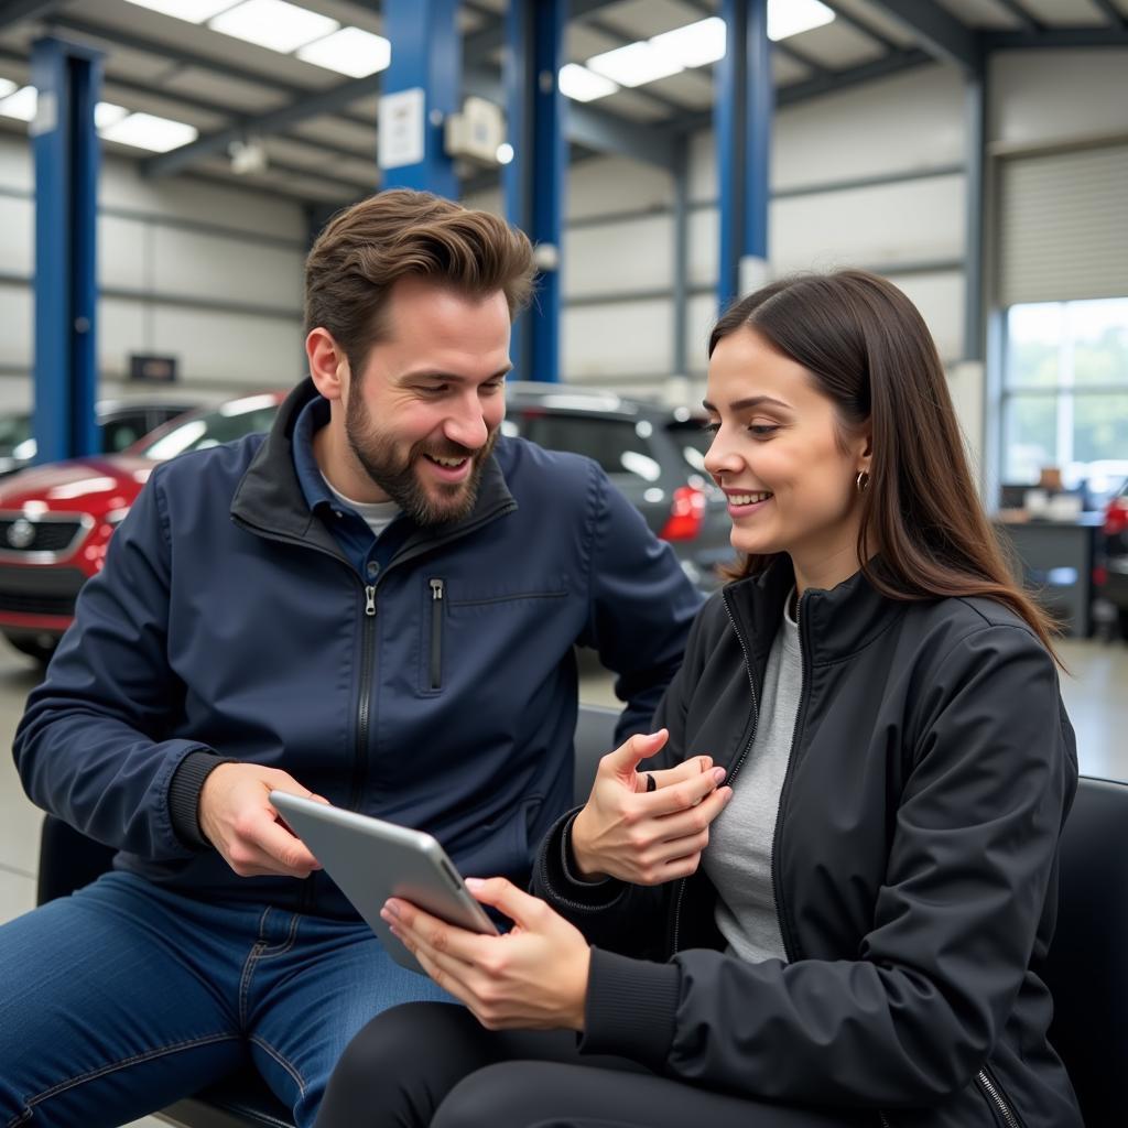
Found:
[(681, 969), (591, 950), (581, 1054), (615, 1054), (663, 1073), (673, 1045)]

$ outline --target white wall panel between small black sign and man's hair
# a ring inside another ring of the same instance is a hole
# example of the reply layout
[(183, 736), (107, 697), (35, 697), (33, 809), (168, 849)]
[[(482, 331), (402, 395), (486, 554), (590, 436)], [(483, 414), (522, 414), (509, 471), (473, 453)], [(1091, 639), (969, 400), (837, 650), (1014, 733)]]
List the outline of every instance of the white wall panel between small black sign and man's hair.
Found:
[(180, 358), (185, 385), (288, 388), (306, 371), (300, 318), (291, 324), (165, 306), (152, 311), (152, 323), (155, 351)]

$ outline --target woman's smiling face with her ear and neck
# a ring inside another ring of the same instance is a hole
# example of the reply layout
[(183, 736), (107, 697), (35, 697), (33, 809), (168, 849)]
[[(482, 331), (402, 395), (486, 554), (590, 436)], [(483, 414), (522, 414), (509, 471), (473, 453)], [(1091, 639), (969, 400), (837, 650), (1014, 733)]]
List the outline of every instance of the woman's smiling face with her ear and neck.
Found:
[(801, 588), (853, 575), (869, 437), (843, 450), (832, 402), (751, 328), (713, 351), (705, 407), (715, 431), (705, 466), (729, 500), (733, 547), (788, 553)]

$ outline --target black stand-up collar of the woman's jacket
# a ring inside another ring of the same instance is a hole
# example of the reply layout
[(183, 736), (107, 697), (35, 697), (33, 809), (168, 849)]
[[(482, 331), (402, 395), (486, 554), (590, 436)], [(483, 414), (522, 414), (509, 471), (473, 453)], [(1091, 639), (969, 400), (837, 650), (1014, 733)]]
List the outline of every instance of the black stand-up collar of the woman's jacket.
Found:
[[(880, 573), (880, 557), (874, 557), (870, 566)], [(724, 589), (733, 625), (761, 671), (794, 583), (791, 559), (781, 554), (758, 576), (738, 580)], [(899, 619), (906, 607), (881, 594), (862, 571), (830, 590), (809, 588), (799, 606), (809, 661), (819, 666), (857, 653)]]

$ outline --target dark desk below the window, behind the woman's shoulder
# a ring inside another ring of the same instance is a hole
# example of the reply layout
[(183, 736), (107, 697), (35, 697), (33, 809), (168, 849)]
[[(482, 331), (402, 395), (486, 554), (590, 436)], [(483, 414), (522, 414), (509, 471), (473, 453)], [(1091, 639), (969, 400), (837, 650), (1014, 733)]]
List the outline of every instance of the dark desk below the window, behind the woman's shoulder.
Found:
[[(1093, 633), (1093, 557), (1104, 523), (1101, 513), (1070, 521), (997, 517), (995, 529), (1015, 579), (1061, 623), (1066, 634)], [(1008, 544), (1010, 543), (1010, 544)]]

